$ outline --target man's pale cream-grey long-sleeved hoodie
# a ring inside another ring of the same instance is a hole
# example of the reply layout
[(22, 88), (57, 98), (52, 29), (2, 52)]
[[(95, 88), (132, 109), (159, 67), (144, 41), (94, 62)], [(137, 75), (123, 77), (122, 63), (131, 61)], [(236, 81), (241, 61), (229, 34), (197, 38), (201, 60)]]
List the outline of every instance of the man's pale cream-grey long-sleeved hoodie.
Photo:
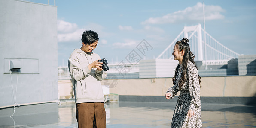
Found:
[(101, 59), (96, 53), (86, 54), (81, 49), (75, 49), (68, 60), (68, 68), (76, 103), (104, 102), (101, 80), (107, 77), (107, 72), (96, 68), (88, 69), (88, 65)]

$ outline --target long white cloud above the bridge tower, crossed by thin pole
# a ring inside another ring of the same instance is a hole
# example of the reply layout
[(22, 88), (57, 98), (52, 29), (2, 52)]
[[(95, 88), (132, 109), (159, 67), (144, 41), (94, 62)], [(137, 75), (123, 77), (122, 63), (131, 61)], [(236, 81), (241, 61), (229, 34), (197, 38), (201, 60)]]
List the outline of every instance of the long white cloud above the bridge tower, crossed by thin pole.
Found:
[[(219, 20), (224, 19), (224, 15), (221, 12), (225, 12), (220, 6), (205, 6), (205, 20)], [(184, 10), (169, 13), (162, 17), (150, 17), (142, 24), (164, 24), (164, 23), (180, 23), (191, 21), (203, 20), (203, 4), (198, 2), (193, 7), (187, 7)]]

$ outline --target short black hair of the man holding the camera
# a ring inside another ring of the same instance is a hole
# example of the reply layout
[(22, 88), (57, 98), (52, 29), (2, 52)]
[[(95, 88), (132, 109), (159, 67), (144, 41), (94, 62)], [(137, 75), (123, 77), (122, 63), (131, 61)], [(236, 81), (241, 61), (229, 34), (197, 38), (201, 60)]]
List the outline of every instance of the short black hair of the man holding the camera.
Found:
[(82, 33), (82, 39), (81, 41), (85, 45), (90, 45), (96, 41), (99, 41), (98, 34), (91, 30), (86, 30)]

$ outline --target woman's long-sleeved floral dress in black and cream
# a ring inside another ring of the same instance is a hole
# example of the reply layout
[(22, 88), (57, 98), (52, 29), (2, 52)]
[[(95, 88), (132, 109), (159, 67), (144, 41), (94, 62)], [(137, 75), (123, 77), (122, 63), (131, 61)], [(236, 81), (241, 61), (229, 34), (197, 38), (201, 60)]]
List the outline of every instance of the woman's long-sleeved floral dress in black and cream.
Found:
[[(183, 66), (180, 64), (174, 86), (170, 87), (166, 93), (171, 93), (170, 98), (174, 98), (178, 91), (177, 104), (174, 110), (174, 115), (171, 122), (171, 128), (202, 128), (201, 119), (201, 101), (200, 101), (200, 85), (198, 79), (198, 71), (195, 64), (188, 61), (188, 70), (186, 72), (186, 81), (179, 88)], [(188, 117), (188, 110), (195, 112), (194, 116)]]

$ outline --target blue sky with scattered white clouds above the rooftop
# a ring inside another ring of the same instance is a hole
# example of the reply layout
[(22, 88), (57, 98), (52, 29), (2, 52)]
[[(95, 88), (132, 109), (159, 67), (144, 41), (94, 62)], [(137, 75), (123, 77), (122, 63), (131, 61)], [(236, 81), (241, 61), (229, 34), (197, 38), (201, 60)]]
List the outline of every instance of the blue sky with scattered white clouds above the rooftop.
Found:
[(184, 26), (203, 26), (203, 2), (206, 31), (238, 54), (256, 55), (256, 0), (55, 0), (58, 66), (67, 66), (85, 30), (98, 33), (94, 53), (109, 63), (125, 61), (143, 41), (151, 47), (141, 56), (154, 59)]

